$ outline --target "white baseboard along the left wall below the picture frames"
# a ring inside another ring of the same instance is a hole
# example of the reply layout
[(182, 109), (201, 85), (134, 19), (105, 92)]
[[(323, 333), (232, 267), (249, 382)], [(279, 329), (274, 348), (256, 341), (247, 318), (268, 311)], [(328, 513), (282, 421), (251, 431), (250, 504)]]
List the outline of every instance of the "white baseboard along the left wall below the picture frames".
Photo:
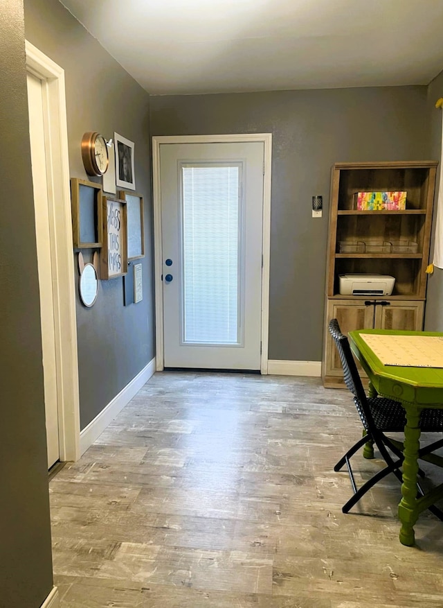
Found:
[(141, 372), (138, 372), (136, 377), (132, 379), (123, 390), (120, 390), (118, 395), (107, 404), (100, 414), (91, 420), (88, 426), (84, 427), (83, 431), (80, 431), (80, 455), (87, 451), (89, 446), (91, 446), (102, 432), (105, 431), (108, 424), (114, 420), (116, 415), (118, 415), (127, 403), (131, 401), (132, 397), (134, 397), (142, 386), (147, 383), (154, 374), (155, 367), (154, 357), (146, 367), (143, 367)]

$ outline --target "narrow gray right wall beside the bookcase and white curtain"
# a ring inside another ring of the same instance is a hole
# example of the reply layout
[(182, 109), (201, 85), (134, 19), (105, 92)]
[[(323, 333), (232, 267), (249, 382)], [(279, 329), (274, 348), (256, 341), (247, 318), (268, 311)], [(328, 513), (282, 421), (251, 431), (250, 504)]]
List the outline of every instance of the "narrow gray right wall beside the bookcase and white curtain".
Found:
[[(442, 110), (435, 108), (435, 102), (443, 97), (443, 72), (428, 86), (428, 157), (440, 160), (442, 148)], [(440, 165), (437, 167), (437, 184), (434, 199), (433, 235), (431, 240), (431, 261), (433, 259), (435, 220), (437, 219), (437, 192), (439, 185)], [(443, 209), (442, 209), (443, 212)], [(426, 311), (424, 329), (426, 331), (443, 331), (443, 270), (434, 267), (433, 275), (428, 278), (426, 293)]]

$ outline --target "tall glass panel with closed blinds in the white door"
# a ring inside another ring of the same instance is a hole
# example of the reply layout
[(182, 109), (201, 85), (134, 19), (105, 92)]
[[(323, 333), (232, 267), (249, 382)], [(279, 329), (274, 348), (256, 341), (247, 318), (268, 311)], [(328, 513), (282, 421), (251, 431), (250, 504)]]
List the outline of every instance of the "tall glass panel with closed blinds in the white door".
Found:
[(241, 163), (181, 167), (183, 344), (241, 342)]

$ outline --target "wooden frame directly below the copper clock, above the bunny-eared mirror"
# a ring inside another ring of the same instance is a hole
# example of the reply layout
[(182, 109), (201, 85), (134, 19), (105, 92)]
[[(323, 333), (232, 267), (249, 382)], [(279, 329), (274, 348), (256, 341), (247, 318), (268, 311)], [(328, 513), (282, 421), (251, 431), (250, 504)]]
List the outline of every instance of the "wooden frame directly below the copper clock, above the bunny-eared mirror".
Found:
[(103, 243), (102, 186), (71, 177), (72, 236), (77, 249)]

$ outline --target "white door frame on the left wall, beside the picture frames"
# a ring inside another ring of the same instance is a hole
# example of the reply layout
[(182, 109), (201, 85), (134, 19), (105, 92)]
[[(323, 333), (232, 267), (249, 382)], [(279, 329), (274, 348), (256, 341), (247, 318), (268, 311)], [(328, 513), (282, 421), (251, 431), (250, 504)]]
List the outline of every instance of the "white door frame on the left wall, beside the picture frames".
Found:
[(25, 44), (26, 70), (42, 80), (60, 460), (75, 461), (80, 458), (80, 398), (64, 69), (28, 40)]

